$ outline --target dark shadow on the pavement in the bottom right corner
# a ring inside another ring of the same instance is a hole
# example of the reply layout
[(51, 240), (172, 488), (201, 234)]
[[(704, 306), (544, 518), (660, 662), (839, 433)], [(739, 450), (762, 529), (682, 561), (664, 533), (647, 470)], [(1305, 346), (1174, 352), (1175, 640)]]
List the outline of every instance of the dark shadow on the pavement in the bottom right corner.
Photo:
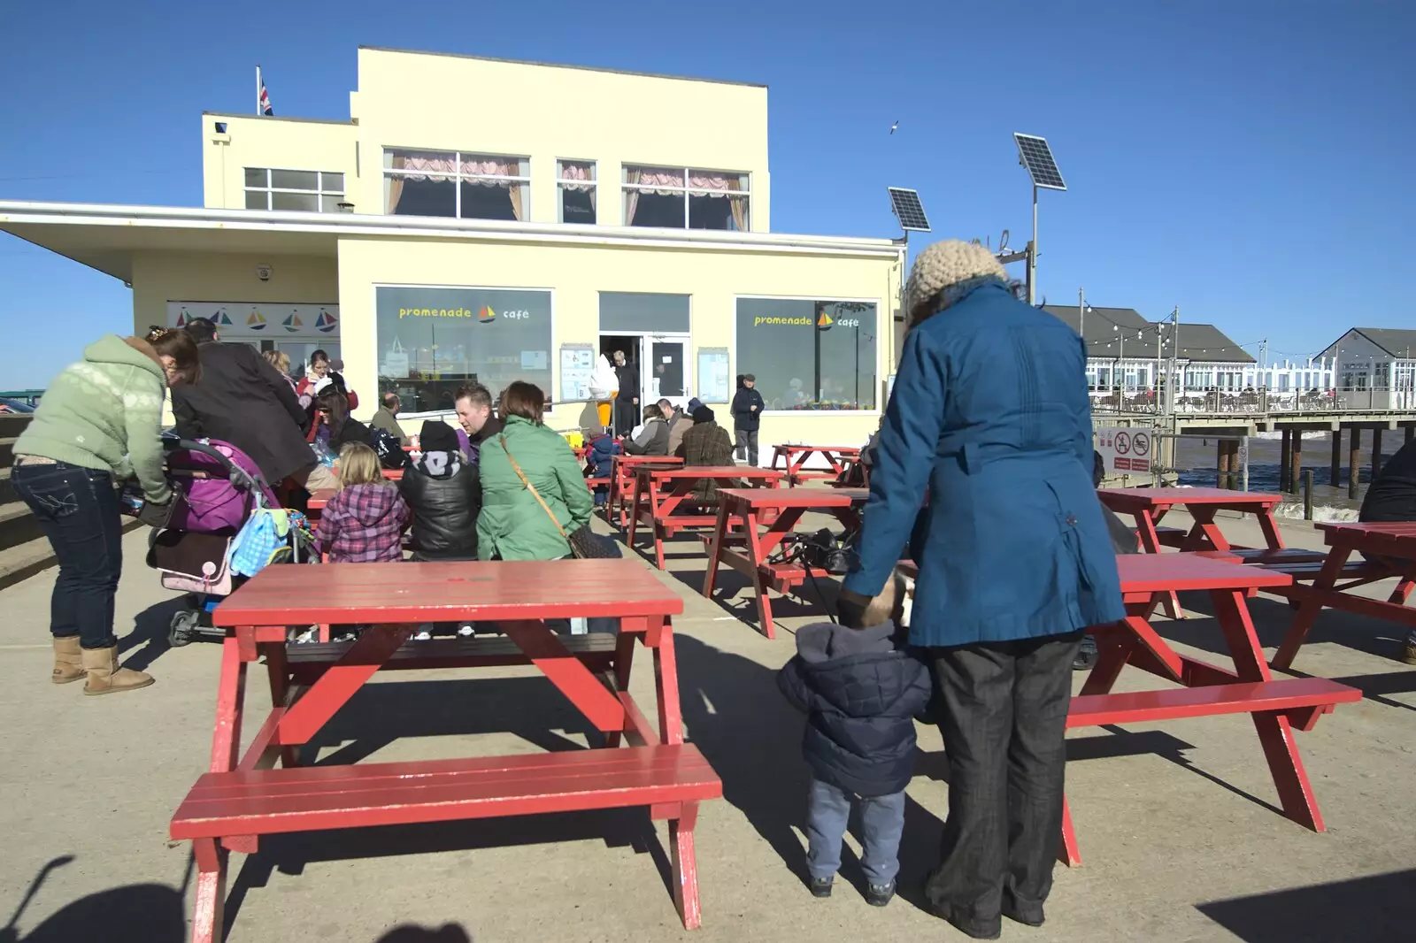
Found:
[(1211, 901), (1195, 909), (1243, 943), (1348, 943), (1409, 940), (1416, 926), (1416, 869), (1392, 871), (1247, 898)]

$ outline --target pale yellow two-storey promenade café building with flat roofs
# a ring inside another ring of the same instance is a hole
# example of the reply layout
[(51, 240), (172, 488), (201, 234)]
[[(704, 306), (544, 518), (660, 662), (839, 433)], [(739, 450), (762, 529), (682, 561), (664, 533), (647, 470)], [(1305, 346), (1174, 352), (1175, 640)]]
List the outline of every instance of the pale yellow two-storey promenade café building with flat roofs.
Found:
[(589, 425), (623, 350), (647, 401), (756, 374), (765, 446), (877, 426), (903, 246), (770, 231), (765, 86), (361, 48), (350, 120), (200, 133), (200, 210), (0, 202), (0, 229), (130, 285), (135, 330), (324, 348), (405, 415), (528, 379)]

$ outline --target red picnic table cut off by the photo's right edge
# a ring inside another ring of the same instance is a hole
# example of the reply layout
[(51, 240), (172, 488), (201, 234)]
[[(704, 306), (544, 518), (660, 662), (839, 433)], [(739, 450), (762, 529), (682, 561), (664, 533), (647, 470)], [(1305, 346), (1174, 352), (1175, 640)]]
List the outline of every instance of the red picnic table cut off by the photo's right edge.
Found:
[[(1344, 609), (1372, 619), (1386, 619), (1408, 629), (1416, 627), (1416, 609), (1410, 609), (1412, 588), (1416, 586), (1416, 522), (1395, 524), (1317, 524), (1331, 548), (1315, 561), (1274, 561), (1266, 569), (1284, 572), (1293, 578), (1291, 586), (1274, 589), (1290, 599), (1297, 612), (1283, 644), (1273, 656), (1273, 667), (1287, 671), (1298, 648), (1308, 637), (1313, 623), (1324, 607)], [(1352, 554), (1362, 558), (1352, 559)], [(1379, 558), (1379, 559), (1378, 559)], [(1386, 599), (1354, 595), (1359, 586), (1396, 578), (1396, 588)], [(1304, 582), (1311, 581), (1311, 585)]]

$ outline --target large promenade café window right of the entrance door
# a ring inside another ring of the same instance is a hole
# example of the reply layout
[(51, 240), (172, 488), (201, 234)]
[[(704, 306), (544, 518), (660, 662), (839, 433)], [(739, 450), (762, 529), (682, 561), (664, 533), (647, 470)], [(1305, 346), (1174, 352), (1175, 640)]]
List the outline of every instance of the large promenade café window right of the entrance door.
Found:
[(875, 304), (738, 299), (738, 374), (767, 409), (875, 409)]

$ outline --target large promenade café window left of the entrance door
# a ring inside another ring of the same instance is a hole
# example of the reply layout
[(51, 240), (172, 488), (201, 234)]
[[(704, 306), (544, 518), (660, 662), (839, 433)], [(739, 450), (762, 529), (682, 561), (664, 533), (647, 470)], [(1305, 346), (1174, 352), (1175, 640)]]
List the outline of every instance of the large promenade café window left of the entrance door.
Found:
[(493, 396), (515, 379), (551, 387), (551, 293), (385, 286), (375, 290), (379, 392), (405, 412), (453, 409), (457, 387)]

